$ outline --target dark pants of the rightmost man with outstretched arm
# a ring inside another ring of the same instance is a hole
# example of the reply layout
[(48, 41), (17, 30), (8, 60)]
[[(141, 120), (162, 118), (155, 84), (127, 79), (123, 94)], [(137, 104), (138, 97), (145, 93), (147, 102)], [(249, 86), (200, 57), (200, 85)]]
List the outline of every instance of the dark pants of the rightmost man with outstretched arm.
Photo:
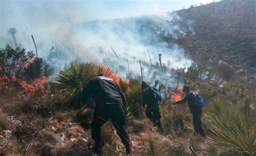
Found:
[(202, 117), (203, 109), (197, 109), (192, 112), (193, 115), (193, 125), (194, 125), (194, 132), (200, 133), (201, 135), (205, 135), (204, 128), (202, 126), (201, 117)]

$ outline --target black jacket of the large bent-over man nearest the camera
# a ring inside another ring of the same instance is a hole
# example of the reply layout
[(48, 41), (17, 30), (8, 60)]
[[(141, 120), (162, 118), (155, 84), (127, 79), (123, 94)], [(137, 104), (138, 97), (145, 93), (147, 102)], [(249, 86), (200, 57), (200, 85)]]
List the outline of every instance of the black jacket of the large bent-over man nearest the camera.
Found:
[(96, 100), (96, 108), (102, 108), (109, 104), (126, 104), (124, 93), (114, 80), (105, 76), (92, 78), (82, 91), (82, 102), (93, 94)]

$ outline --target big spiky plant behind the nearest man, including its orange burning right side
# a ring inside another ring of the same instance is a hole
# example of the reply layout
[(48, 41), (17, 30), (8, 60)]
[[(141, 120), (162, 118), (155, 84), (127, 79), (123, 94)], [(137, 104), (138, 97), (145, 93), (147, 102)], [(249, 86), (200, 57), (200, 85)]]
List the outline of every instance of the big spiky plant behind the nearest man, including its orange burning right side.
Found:
[[(56, 78), (56, 89), (60, 90), (60, 94), (67, 99), (73, 100), (73, 103), (79, 107), (81, 93), (93, 77), (99, 73), (104, 73), (107, 77), (113, 79), (119, 86), (126, 86), (129, 89), (129, 83), (120, 79), (117, 74), (113, 73), (109, 68), (104, 65), (95, 65), (92, 63), (77, 63), (71, 62), (66, 69), (60, 71)], [(87, 105), (93, 108), (95, 101), (90, 98)], [(87, 107), (87, 106), (86, 106)]]

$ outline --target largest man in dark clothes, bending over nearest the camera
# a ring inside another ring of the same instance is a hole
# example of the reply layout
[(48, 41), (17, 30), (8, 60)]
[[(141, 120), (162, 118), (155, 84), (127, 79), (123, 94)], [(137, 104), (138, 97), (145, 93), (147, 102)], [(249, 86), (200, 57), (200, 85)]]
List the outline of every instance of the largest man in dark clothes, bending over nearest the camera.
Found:
[(100, 127), (111, 119), (117, 130), (122, 143), (125, 145), (126, 153), (131, 153), (130, 137), (125, 128), (124, 106), (126, 99), (114, 80), (101, 73), (92, 78), (82, 92), (82, 101), (86, 103), (87, 98), (93, 94), (96, 100), (95, 112), (91, 123), (91, 135), (95, 140), (95, 153), (102, 153)]

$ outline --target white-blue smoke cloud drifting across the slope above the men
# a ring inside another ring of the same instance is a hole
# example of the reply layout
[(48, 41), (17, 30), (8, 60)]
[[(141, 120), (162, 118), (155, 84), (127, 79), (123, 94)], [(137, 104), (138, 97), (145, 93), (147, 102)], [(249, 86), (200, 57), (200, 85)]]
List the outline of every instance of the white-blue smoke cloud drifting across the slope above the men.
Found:
[[(22, 31), (24, 25), (22, 30), (17, 25), (12, 27), (18, 30), (17, 42), (20, 46), (35, 51), (31, 40), (33, 34), (39, 56), (51, 62), (58, 70), (63, 69), (65, 64), (72, 60), (88, 61), (106, 64), (125, 78), (129, 74), (127, 60), (131, 75), (140, 76), (140, 60), (145, 80), (153, 82), (158, 79), (156, 67), (160, 66), (159, 54), (161, 64), (169, 66), (170, 69), (184, 68), (192, 64), (190, 59), (186, 60), (183, 49), (161, 39), (164, 36), (177, 37), (191, 29), (180, 26), (180, 18), (175, 13), (73, 24), (73, 18), (64, 18), (47, 8), (45, 9), (48, 15), (52, 16), (45, 18), (51, 18), (51, 24), (36, 23), (32, 26), (30, 21), (25, 31)], [(4, 34), (0, 42), (1, 48), (4, 48), (5, 44), (13, 44), (11, 37)], [(154, 68), (151, 66), (147, 49)]]

